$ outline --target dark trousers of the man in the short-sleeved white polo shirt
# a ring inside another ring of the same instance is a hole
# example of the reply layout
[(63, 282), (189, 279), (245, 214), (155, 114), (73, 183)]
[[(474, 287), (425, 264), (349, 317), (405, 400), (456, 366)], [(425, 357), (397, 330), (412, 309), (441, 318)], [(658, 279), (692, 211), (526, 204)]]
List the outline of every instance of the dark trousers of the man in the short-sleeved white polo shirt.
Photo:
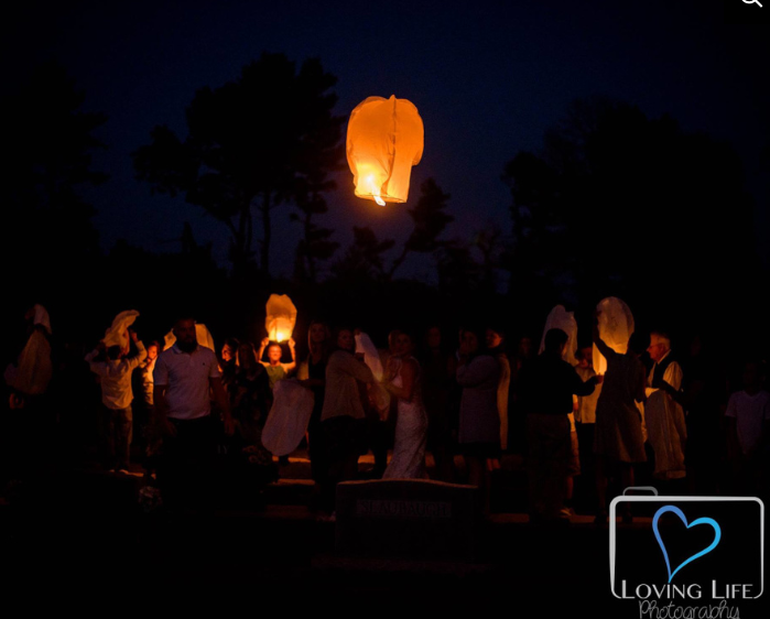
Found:
[(158, 459), (158, 482), (163, 504), (171, 511), (213, 510), (216, 424), (210, 415), (195, 420), (170, 419), (176, 428), (165, 436)]

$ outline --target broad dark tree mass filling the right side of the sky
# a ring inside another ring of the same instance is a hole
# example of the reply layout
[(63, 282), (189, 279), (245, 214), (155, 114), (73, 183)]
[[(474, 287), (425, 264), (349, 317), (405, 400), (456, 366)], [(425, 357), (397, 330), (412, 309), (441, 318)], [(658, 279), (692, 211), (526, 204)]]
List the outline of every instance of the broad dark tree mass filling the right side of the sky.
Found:
[(668, 116), (577, 101), (542, 151), (519, 153), (502, 178), (513, 198), (513, 285), (529, 272), (527, 287), (571, 280), (589, 303), (620, 291), (681, 300), (685, 312), (724, 298), (756, 263), (738, 156)]

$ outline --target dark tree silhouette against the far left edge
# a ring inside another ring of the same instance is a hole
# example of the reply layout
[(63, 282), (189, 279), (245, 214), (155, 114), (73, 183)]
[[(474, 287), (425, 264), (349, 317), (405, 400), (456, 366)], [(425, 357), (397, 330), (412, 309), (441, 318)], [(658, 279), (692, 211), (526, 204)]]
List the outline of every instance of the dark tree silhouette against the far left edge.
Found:
[(55, 63), (37, 67), (0, 100), (10, 155), (0, 166), (0, 185), (12, 218), (0, 226), (0, 246), (9, 265), (7, 289), (22, 303), (55, 304), (55, 291), (66, 287), (72, 300), (93, 286), (85, 282), (99, 245), (83, 192), (107, 180), (91, 169), (91, 152), (104, 146), (94, 131), (106, 117), (83, 111), (84, 101), (85, 94)]

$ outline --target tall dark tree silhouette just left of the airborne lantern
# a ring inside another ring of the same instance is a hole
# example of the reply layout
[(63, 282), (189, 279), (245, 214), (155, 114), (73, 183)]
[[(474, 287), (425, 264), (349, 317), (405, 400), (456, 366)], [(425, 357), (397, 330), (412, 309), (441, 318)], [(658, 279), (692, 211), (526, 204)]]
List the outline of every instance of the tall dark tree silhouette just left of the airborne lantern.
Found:
[(152, 142), (134, 153), (138, 177), (154, 191), (184, 194), (225, 224), (236, 268), (253, 262), (256, 213), (262, 228), (259, 267), (269, 274), (278, 206), (296, 204), (305, 215), (305, 246), (317, 242), (310, 217), (325, 211), (321, 196), (334, 187), (327, 174), (343, 156), (343, 119), (332, 113), (335, 83), (318, 59), (305, 61), (297, 72), (283, 54), (264, 53), (238, 79), (196, 93), (184, 141), (155, 127)]

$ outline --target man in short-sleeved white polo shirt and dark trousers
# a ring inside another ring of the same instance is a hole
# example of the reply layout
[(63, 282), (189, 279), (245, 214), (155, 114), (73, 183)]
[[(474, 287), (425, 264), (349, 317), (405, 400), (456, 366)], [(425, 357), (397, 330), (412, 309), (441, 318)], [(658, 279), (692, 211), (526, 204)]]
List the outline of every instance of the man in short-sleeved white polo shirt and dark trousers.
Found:
[(206, 509), (216, 438), (212, 395), (228, 435), (232, 416), (217, 356), (198, 345), (195, 321), (178, 319), (174, 336), (176, 341), (159, 355), (153, 372), (156, 424), (163, 434), (159, 482), (167, 507)]

